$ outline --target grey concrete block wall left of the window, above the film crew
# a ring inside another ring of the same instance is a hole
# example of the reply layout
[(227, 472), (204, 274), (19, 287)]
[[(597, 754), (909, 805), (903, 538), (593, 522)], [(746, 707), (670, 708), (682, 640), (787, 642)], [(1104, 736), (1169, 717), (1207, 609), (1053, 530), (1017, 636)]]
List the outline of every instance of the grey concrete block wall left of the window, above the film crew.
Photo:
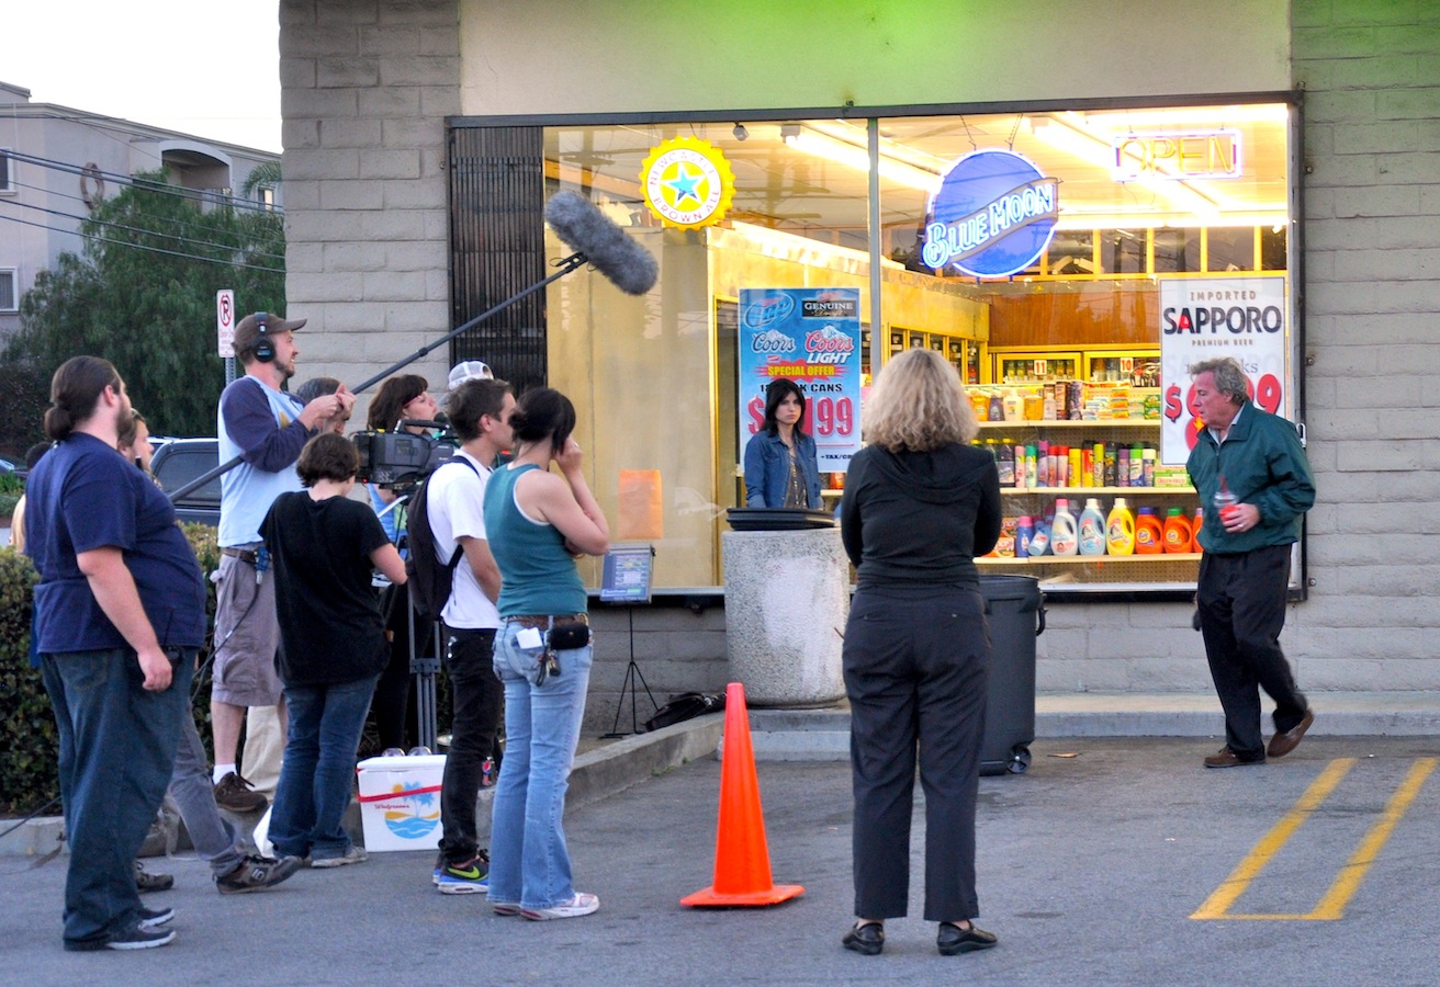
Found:
[[(451, 328), (458, 3), (281, 0), (279, 17), (285, 292), (310, 319), (297, 378), (357, 384)], [(444, 390), (448, 358), (439, 347), (405, 373)]]

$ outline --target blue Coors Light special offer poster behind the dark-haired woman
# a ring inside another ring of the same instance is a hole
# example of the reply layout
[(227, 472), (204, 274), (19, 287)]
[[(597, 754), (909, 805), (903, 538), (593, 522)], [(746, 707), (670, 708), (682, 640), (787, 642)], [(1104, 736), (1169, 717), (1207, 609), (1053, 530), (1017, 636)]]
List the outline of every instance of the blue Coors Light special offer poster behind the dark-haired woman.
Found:
[(860, 450), (860, 289), (743, 288), (737, 342), (742, 460), (765, 427), (765, 387), (788, 377), (805, 394), (819, 472), (845, 472)]

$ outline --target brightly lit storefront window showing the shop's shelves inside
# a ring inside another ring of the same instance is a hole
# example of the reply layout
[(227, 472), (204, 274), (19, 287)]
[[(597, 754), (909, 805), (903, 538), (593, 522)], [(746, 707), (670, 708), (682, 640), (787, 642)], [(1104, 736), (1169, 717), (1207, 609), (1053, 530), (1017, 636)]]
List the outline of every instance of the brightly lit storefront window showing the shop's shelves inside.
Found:
[[(1227, 105), (544, 128), (547, 194), (582, 191), (661, 268), (641, 298), (599, 276), (562, 279), (546, 295), (550, 383), (580, 410), (615, 540), (655, 545), (660, 590), (720, 583), (724, 511), (744, 495), (742, 292), (844, 289), (858, 298), (867, 383), (894, 352), (930, 347), (985, 419), (992, 407), (1014, 413), (985, 420), (979, 437), (1008, 478), (1011, 519), (1011, 541), (985, 565), (1040, 576), (1054, 591), (1192, 586), (1192, 551), (1017, 558), (1015, 538), (1044, 525), (1058, 499), (1076, 515), (1093, 498), (1104, 511), (1125, 499), (1136, 518), (1142, 508), (1162, 522), (1172, 509), (1194, 518), (1184, 459), (1162, 455), (1162, 308), (1181, 282), (1200, 292), (1274, 279), (1286, 308), (1282, 387), (1295, 391), (1290, 127), (1284, 105)], [(677, 227), (647, 196), (647, 161), (675, 142), (703, 144), (733, 176), (717, 222)], [(985, 150), (1032, 165), (1035, 201), (1050, 188), (1058, 200), (1045, 217), (1053, 233), (999, 272), (966, 268), (985, 253), (969, 242), (979, 224), (936, 239), (946, 176)], [(547, 237), (547, 256), (563, 256)], [(834, 505), (842, 475), (825, 479)]]

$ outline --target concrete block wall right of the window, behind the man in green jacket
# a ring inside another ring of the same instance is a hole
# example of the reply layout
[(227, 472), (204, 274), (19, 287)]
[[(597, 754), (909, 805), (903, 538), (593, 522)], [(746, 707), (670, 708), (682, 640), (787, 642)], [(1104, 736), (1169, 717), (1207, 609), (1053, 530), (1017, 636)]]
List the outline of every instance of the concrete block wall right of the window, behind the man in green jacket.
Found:
[(1295, 0), (1313, 586), (1300, 685), (1440, 688), (1440, 6)]

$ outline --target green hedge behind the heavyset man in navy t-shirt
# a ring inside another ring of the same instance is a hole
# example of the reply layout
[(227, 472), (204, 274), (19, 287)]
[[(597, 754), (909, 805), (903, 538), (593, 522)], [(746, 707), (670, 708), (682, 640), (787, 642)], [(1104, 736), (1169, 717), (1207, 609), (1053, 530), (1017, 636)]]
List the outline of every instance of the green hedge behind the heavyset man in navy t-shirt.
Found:
[[(219, 567), (215, 528), (183, 525), (200, 570)], [(0, 813), (23, 814), (59, 794), (58, 738), (50, 698), (40, 670), (30, 668), (30, 609), (35, 567), (14, 548), (0, 548)], [(215, 616), (215, 584), (206, 580), (209, 617)], [(202, 660), (206, 655), (202, 655)], [(210, 689), (196, 683), (194, 712), (209, 741)], [(58, 811), (58, 810), (56, 810)]]

